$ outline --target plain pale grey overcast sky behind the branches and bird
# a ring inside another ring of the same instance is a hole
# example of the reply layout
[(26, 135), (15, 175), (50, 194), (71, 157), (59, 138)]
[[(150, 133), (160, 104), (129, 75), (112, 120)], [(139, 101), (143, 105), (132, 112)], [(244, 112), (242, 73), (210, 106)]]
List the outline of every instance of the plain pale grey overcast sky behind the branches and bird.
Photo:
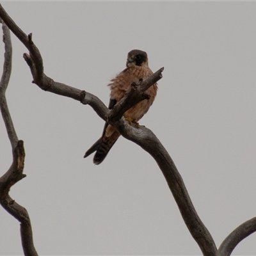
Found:
[[(108, 104), (127, 52), (164, 67), (141, 121), (172, 156), (217, 246), (256, 215), (255, 2), (3, 2), (33, 41), (45, 74)], [(84, 152), (104, 122), (90, 106), (44, 92), (12, 35), (7, 100), (24, 140), (26, 207), (40, 255), (201, 255), (154, 159), (119, 138), (99, 166)], [(3, 63), (3, 43), (0, 47)], [(0, 175), (12, 163), (0, 120)], [(0, 254), (21, 255), (19, 222), (0, 209)], [(256, 234), (234, 255), (256, 255)]]

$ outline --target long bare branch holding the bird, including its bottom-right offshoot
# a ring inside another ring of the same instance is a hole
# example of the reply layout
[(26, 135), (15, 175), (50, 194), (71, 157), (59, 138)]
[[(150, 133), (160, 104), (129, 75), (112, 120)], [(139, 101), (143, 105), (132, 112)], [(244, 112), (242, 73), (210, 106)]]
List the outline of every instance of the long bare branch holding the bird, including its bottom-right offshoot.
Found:
[[(0, 17), (6, 22), (7, 26), (13, 31), (13, 33), (19, 38), (19, 40), (28, 48), (29, 54), (24, 54), (24, 60), (31, 69), (33, 76), (33, 83), (37, 84), (42, 90), (47, 92), (56, 93), (65, 97), (70, 97), (75, 100), (79, 100), (83, 104), (92, 106), (97, 115), (100, 116), (109, 124), (114, 125), (116, 129), (134, 143), (140, 145), (141, 148), (146, 150), (156, 160), (159, 168), (163, 172), (163, 175), (168, 183), (173, 197), (177, 202), (180, 213), (184, 222), (186, 223), (189, 232), (195, 239), (198, 246), (202, 250), (204, 255), (218, 256), (218, 255), (230, 255), (234, 247), (244, 239), (244, 237), (252, 234), (255, 231), (255, 220), (246, 221), (236, 230), (234, 230), (220, 246), (220, 254), (216, 248), (214, 240), (211, 234), (205, 227), (204, 223), (200, 220), (193, 206), (191, 199), (188, 195), (188, 191), (182, 177), (180, 176), (172, 158), (165, 150), (161, 142), (157, 139), (155, 134), (146, 127), (133, 127), (129, 125), (124, 116), (122, 116), (127, 109), (138, 104), (141, 100), (148, 99), (145, 91), (161, 79), (163, 68), (159, 69), (155, 74), (148, 77), (145, 81), (140, 81), (138, 84), (131, 84), (125, 97), (118, 102), (115, 107), (109, 110), (102, 101), (95, 95), (78, 90), (72, 86), (68, 86), (63, 83), (53, 81), (50, 77), (44, 74), (43, 60), (38, 48), (32, 42), (32, 35), (28, 36), (13, 22), (13, 20), (4, 11), (0, 4)], [(234, 242), (235, 240), (236, 242)]]

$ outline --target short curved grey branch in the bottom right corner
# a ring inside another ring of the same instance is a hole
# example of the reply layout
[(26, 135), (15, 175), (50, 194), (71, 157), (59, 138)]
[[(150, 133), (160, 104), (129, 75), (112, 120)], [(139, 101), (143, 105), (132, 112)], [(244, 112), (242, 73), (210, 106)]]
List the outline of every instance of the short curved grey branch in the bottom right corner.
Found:
[(256, 231), (256, 217), (251, 220), (245, 221), (243, 224), (239, 225), (235, 230), (233, 230), (221, 243), (219, 252), (220, 255), (229, 256), (245, 237), (250, 236)]

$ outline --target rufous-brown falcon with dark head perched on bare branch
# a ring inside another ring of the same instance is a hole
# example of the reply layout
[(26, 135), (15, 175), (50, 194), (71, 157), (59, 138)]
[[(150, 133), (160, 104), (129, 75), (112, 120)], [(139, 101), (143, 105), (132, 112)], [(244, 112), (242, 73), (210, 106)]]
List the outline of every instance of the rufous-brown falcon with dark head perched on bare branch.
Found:
[[(108, 84), (110, 88), (108, 108), (113, 108), (113, 106), (115, 106), (115, 104), (124, 97), (130, 84), (138, 84), (141, 79), (145, 80), (152, 74), (152, 70), (148, 67), (147, 52), (137, 49), (128, 52), (126, 68), (115, 78), (111, 79), (110, 83)], [(149, 99), (142, 100), (124, 113), (125, 119), (129, 120), (130, 124), (131, 122), (138, 124), (138, 121), (142, 118), (142, 116), (147, 113), (156, 97), (157, 83), (150, 86), (146, 93), (150, 95)], [(102, 136), (86, 151), (84, 158), (90, 156), (90, 154), (96, 151), (93, 157), (93, 163), (102, 163), (119, 136), (120, 132), (118, 132), (113, 125), (106, 122)]]

